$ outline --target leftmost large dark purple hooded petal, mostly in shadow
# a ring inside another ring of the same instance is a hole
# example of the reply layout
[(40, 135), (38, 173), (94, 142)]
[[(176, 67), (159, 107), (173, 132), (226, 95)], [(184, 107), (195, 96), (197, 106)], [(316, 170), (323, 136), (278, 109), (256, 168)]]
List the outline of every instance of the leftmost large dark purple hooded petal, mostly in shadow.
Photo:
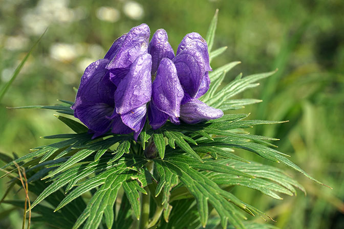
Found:
[(74, 116), (89, 129), (105, 133), (109, 130), (111, 120), (107, 119), (114, 110), (114, 93), (116, 86), (109, 79), (109, 71), (105, 68), (109, 62), (100, 59), (90, 64), (81, 77), (75, 103)]

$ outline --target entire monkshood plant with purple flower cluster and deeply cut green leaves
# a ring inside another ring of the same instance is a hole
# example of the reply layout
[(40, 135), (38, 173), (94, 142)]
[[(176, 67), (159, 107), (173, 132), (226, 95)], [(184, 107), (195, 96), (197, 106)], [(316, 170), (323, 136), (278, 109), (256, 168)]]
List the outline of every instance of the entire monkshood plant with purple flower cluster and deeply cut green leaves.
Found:
[(234, 149), (321, 184), (273, 148), (277, 139), (245, 130), (283, 122), (232, 112), (261, 102), (233, 97), (275, 71), (240, 74), (221, 85), (240, 62), (210, 66), (226, 50), (212, 51), (216, 25), (217, 13), (206, 39), (188, 33), (176, 52), (165, 30), (149, 41), (147, 25), (134, 27), (86, 68), (75, 102), (38, 106), (65, 114), (56, 117), (75, 133), (46, 136), (61, 141), (3, 167), (37, 195), (23, 204), (29, 221), (32, 212), (32, 220), (57, 228), (264, 228), (248, 216), (270, 217), (236, 197), (233, 187), (276, 199), (305, 190), (281, 169), (248, 161)]

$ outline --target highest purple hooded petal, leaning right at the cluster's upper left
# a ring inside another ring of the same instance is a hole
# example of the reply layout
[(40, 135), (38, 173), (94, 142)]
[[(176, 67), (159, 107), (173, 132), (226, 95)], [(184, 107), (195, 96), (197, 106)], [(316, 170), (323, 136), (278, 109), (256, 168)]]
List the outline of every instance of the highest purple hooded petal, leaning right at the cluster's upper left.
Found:
[(147, 52), (149, 34), (149, 27), (146, 24), (132, 28), (126, 34), (121, 47), (106, 68), (130, 66), (138, 56)]

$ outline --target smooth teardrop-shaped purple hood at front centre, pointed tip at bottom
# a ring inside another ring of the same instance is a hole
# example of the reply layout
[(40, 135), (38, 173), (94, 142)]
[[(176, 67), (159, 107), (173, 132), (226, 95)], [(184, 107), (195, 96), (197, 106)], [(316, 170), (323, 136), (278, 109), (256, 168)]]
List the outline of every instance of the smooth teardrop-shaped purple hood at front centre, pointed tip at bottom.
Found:
[(171, 120), (178, 122), (183, 97), (184, 91), (174, 63), (170, 59), (163, 58), (152, 87), (154, 104), (157, 109), (168, 114)]

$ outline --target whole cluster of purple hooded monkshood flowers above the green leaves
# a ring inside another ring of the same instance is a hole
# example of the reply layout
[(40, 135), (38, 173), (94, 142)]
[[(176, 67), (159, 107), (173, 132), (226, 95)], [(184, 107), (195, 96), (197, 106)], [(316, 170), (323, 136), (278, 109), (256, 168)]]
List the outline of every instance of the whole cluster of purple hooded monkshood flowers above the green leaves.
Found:
[(157, 30), (150, 42), (149, 35), (145, 24), (132, 28), (81, 77), (72, 109), (93, 138), (111, 130), (134, 132), (137, 140), (147, 114), (153, 129), (167, 120), (194, 124), (223, 116), (198, 100), (209, 89), (212, 71), (202, 36), (187, 34), (175, 56), (165, 30)]

